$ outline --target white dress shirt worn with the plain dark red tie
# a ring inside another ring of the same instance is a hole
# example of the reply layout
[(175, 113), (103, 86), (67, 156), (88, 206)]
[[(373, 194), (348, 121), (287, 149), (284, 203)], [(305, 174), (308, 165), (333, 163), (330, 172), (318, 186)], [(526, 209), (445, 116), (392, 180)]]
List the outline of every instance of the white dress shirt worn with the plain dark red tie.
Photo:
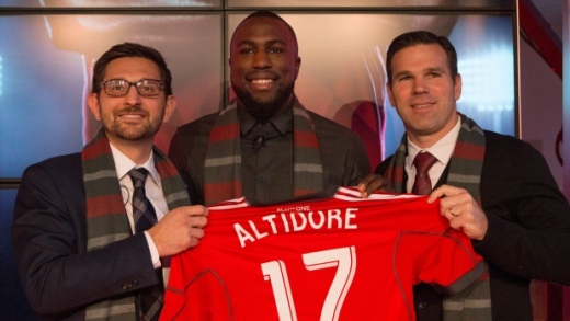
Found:
[(417, 145), (410, 141), (408, 138), (408, 156), (406, 157), (406, 173), (408, 173), (408, 182), (406, 185), (406, 191), (411, 192), (413, 182), (415, 181), (415, 167), (413, 165), (413, 159), (420, 151), (429, 151), (433, 154), (437, 162), (433, 164), (433, 167), (428, 171), (430, 174), (430, 181), (432, 183), (432, 188), (437, 184), (437, 181), (442, 176), (443, 171), (447, 167), (449, 159), (452, 158), (453, 151), (455, 149), (455, 144), (457, 142), (457, 137), (459, 137), (459, 129), (461, 128), (461, 119), (457, 117), (457, 124), (453, 129), (447, 133), (442, 139), (440, 139), (436, 144), (431, 146), (430, 148), (421, 149)]

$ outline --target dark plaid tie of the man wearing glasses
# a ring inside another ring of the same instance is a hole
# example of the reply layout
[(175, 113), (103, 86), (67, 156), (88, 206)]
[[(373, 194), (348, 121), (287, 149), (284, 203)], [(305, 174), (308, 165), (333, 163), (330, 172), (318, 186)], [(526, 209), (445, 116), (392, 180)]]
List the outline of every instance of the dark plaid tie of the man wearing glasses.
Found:
[[(133, 169), (128, 172), (135, 191), (133, 192), (133, 219), (135, 231), (144, 232), (157, 222), (157, 215), (150, 200), (145, 193), (145, 182), (148, 171), (144, 168)], [(157, 270), (159, 284), (145, 288), (140, 291), (140, 319), (158, 320), (162, 303), (164, 302), (164, 287), (162, 283), (162, 271)]]

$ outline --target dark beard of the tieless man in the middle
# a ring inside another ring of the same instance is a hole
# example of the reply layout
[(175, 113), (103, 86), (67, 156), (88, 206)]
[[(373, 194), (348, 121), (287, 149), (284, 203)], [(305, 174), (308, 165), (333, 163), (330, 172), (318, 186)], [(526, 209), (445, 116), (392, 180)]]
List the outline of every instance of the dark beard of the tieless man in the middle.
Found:
[(281, 110), (285, 103), (287, 103), (293, 94), (293, 88), (294, 83), (290, 83), (289, 85), (277, 90), (275, 95), (267, 100), (256, 99), (250, 92), (238, 89), (236, 87), (233, 87), (233, 92), (241, 101), (248, 113), (250, 113), (259, 122), (266, 122), (273, 117), (273, 115), (275, 115), (275, 113), (277, 113), (277, 111)]

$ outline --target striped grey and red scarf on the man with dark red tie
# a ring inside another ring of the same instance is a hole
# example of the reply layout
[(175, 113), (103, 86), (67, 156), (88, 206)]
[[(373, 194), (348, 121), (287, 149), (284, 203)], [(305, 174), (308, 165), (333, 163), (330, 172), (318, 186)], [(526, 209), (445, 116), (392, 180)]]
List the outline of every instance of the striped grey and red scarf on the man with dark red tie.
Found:
[[(461, 128), (449, 160), (446, 184), (465, 188), (481, 205), (481, 171), (485, 158), (483, 130), (470, 118), (459, 113)], [(408, 140), (403, 135), (385, 177), (392, 182), (396, 192), (406, 192), (404, 163)], [(491, 294), (489, 275), (486, 273), (459, 294), (446, 296), (443, 301), (444, 320), (491, 320)]]

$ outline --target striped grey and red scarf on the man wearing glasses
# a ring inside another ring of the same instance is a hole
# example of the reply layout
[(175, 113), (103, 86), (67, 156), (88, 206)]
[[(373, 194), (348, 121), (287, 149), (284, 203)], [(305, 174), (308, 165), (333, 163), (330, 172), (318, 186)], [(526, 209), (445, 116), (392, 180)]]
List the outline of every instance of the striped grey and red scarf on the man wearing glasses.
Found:
[[(111, 147), (101, 128), (81, 153), (87, 197), (87, 250), (103, 248), (132, 236)], [(190, 205), (174, 164), (153, 147), (155, 165), (169, 209)], [(136, 320), (135, 295), (91, 305), (86, 320)]]

